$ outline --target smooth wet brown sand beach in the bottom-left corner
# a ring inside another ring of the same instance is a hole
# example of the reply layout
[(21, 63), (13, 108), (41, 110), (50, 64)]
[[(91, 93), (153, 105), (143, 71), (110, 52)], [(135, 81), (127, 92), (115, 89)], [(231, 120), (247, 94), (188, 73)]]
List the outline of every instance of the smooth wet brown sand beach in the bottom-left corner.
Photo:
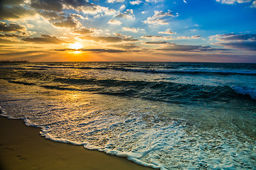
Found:
[(0, 117), (0, 169), (149, 169), (102, 152), (46, 140), (40, 128)]

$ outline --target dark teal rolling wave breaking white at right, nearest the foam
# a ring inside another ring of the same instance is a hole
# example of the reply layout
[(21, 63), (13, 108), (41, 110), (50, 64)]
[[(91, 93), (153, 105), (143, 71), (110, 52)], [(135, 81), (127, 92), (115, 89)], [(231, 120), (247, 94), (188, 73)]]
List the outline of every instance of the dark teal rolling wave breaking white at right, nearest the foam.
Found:
[[(249, 87), (203, 86), (193, 84), (178, 84), (166, 81), (129, 81), (117, 79), (54, 79), (62, 84), (77, 86), (80, 91), (91, 91), (97, 94), (112, 96), (127, 96), (144, 98), (150, 101), (167, 103), (208, 103), (212, 101), (229, 102), (230, 100), (247, 100), (242, 96), (255, 98), (255, 89)], [(51, 87), (53, 88), (53, 87)], [(56, 86), (53, 89), (60, 89)], [(63, 89), (63, 88), (61, 88)], [(68, 90), (65, 87), (63, 90)], [(72, 88), (70, 88), (72, 89)], [(242, 96), (241, 96), (242, 94)]]

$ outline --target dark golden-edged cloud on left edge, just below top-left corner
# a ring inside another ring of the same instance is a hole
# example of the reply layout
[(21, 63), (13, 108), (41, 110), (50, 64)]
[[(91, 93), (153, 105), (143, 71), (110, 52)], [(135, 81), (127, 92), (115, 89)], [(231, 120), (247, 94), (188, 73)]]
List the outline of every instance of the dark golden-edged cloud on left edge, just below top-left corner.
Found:
[(34, 15), (35, 12), (22, 6), (1, 6), (0, 20), (18, 19), (24, 16)]

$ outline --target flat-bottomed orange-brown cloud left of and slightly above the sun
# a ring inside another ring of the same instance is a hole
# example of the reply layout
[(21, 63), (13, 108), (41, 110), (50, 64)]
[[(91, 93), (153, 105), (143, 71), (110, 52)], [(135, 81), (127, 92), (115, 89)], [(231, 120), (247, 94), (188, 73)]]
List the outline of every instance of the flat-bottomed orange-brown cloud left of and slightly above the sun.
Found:
[(41, 35), (40, 38), (23, 38), (25, 42), (34, 42), (38, 44), (62, 44), (66, 43), (65, 40), (60, 40), (54, 35)]

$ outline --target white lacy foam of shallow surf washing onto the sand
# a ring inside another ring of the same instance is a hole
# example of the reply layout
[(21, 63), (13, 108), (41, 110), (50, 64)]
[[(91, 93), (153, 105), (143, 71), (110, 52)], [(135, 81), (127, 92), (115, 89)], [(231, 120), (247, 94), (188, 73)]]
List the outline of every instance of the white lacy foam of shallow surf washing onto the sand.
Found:
[[(3, 109), (1, 112), (11, 118)], [(47, 139), (126, 157), (154, 169), (256, 169), (256, 147), (252, 143), (228, 131), (198, 132), (188, 127), (186, 120), (162, 121), (151, 115), (90, 112), (79, 121), (58, 120), (48, 125), (23, 120), (26, 125), (42, 128), (40, 133)]]

